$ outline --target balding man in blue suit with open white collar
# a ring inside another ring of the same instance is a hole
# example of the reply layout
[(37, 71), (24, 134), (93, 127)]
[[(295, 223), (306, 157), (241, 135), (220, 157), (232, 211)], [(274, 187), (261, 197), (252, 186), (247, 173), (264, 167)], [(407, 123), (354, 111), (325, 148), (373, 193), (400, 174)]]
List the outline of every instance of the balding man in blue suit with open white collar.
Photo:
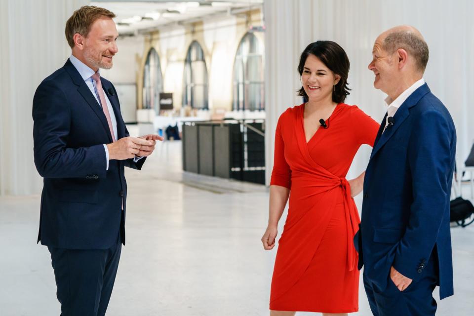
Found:
[(449, 201), (456, 131), (423, 79), (428, 45), (418, 30), (382, 33), (369, 70), (388, 94), (366, 169), (355, 238), (375, 316), (435, 315), (433, 290), (453, 295)]

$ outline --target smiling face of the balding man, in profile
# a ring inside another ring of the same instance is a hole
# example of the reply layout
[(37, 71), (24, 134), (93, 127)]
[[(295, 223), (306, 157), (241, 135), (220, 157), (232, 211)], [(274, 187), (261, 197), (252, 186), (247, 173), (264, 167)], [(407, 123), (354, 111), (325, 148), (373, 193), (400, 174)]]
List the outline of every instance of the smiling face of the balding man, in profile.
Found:
[(380, 89), (387, 94), (396, 88), (397, 63), (396, 54), (389, 54), (382, 48), (383, 35), (375, 40), (374, 48), (372, 50), (372, 61), (368, 65), (368, 69), (373, 71), (375, 75), (374, 87)]

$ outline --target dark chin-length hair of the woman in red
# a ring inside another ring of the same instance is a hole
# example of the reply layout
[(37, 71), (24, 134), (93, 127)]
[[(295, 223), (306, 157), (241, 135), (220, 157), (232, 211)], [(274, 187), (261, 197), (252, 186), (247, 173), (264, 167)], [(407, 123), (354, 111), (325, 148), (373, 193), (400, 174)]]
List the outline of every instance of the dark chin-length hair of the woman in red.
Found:
[[(298, 65), (298, 73), (303, 75), (306, 59), (309, 55), (315, 55), (329, 70), (334, 74), (339, 75), (341, 79), (337, 82), (335, 91), (332, 92), (332, 101), (342, 103), (346, 100), (349, 90), (347, 77), (349, 76), (349, 58), (344, 49), (331, 40), (318, 40), (309, 44), (301, 53), (300, 64)], [(298, 90), (298, 95), (308, 99), (308, 94), (304, 87)]]

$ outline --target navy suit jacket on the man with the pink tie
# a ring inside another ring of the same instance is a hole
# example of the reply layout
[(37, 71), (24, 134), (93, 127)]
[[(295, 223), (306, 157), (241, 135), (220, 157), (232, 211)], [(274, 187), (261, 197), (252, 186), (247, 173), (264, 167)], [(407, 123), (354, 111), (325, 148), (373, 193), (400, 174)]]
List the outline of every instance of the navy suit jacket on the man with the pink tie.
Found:
[[(118, 139), (128, 136), (117, 91), (101, 78), (117, 118)], [(44, 79), (33, 99), (35, 164), (43, 180), (41, 244), (69, 249), (107, 249), (125, 244), (127, 185), (124, 166), (140, 169), (145, 158), (107, 160), (112, 143), (107, 119), (69, 61)], [(121, 210), (123, 198), (124, 210)]]

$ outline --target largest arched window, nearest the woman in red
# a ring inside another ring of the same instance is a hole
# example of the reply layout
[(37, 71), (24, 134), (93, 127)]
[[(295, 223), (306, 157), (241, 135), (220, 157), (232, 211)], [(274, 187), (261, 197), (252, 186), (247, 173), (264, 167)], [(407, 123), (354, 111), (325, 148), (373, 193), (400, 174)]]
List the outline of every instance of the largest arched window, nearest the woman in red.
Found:
[(233, 110), (265, 110), (264, 48), (252, 33), (244, 35), (234, 62)]

